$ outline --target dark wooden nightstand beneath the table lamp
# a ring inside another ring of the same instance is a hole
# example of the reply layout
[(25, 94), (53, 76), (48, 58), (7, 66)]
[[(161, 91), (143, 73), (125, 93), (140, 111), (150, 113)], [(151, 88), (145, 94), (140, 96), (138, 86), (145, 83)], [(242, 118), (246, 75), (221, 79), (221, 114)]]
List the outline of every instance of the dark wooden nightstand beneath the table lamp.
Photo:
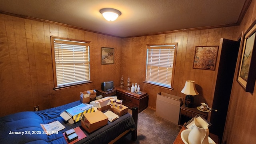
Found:
[(185, 107), (185, 105), (182, 105), (180, 107), (180, 120), (179, 120), (179, 126), (182, 127), (185, 122), (188, 122), (196, 116), (197, 114), (202, 115), (202, 118), (205, 118), (207, 120), (208, 112), (201, 112), (196, 107), (194, 108), (188, 108)]

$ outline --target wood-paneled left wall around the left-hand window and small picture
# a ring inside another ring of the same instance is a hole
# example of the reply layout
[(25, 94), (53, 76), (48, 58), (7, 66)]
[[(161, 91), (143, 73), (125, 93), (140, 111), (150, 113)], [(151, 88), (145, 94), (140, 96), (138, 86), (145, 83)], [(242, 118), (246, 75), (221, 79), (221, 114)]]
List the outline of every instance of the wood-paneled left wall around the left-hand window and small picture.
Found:
[[(79, 100), (81, 91), (100, 89), (103, 81), (119, 83), (121, 39), (0, 14), (0, 116), (40, 110)], [(53, 90), (50, 36), (91, 41), (92, 83)], [(101, 65), (101, 47), (114, 48), (114, 64)]]

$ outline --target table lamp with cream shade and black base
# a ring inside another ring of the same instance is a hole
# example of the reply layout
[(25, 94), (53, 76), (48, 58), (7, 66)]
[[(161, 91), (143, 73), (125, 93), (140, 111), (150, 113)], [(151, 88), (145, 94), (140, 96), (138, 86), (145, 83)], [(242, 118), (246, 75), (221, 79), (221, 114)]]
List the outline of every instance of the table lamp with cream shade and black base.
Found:
[(195, 81), (186, 80), (184, 88), (181, 90), (181, 93), (186, 95), (185, 98), (185, 107), (193, 107), (194, 95), (199, 93), (196, 91)]

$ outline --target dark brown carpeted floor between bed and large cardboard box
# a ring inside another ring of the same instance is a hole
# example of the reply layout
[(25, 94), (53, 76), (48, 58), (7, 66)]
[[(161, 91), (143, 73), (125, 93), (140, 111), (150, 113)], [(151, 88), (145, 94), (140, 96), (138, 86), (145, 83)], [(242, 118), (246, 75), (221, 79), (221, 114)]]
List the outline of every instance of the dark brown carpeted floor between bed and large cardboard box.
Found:
[[(131, 114), (132, 110), (128, 109)], [(172, 144), (180, 132), (178, 125), (155, 115), (155, 110), (146, 108), (138, 114), (137, 140), (131, 134), (118, 140), (117, 144)]]

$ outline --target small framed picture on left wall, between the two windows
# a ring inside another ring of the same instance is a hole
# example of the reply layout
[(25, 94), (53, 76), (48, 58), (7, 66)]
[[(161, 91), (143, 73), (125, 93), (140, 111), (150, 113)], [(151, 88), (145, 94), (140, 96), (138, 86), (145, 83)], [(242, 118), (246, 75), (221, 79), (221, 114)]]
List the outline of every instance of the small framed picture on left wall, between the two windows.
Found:
[(101, 64), (114, 64), (114, 48), (101, 47)]

